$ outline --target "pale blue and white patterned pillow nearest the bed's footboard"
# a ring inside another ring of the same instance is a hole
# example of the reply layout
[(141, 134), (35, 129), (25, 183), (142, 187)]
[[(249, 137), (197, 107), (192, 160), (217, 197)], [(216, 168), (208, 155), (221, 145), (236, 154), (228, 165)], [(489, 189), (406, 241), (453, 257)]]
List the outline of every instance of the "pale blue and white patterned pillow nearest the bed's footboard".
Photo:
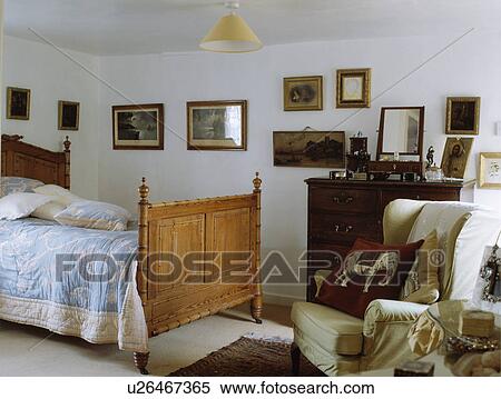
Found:
[(86, 200), (72, 202), (55, 217), (61, 225), (110, 231), (127, 230), (131, 218), (127, 209), (116, 205)]

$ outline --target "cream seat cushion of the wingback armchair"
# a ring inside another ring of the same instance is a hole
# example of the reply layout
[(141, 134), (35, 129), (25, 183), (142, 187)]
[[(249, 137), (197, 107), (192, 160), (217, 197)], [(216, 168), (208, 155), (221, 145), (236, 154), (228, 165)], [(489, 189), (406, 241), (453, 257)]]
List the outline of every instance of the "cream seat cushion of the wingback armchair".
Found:
[(362, 353), (364, 321), (361, 319), (311, 302), (295, 302), (291, 319), (303, 335), (314, 338), (328, 353)]

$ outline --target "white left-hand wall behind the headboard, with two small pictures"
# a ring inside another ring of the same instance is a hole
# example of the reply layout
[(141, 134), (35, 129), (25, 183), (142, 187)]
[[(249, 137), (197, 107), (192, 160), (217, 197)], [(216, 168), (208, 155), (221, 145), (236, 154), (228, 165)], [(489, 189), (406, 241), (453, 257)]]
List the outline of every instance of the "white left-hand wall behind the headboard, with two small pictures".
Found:
[[(91, 70), (98, 70), (96, 57), (69, 51), (68, 54)], [(31, 89), (29, 121), (7, 120), (2, 108), (2, 132), (22, 134), (24, 141), (61, 151), (66, 136), (71, 147), (71, 186), (76, 193), (98, 197), (98, 83), (81, 67), (50, 46), (6, 37), (3, 88)], [(58, 131), (58, 100), (80, 102), (80, 130)]]

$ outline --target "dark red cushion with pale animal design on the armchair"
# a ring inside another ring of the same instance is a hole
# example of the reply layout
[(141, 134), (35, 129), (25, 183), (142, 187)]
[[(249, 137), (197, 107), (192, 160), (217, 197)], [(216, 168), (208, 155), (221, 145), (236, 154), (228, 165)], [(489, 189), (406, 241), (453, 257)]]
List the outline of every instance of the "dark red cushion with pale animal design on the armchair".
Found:
[(343, 267), (322, 285), (316, 300), (363, 319), (374, 299), (399, 299), (423, 242), (385, 246), (357, 239)]

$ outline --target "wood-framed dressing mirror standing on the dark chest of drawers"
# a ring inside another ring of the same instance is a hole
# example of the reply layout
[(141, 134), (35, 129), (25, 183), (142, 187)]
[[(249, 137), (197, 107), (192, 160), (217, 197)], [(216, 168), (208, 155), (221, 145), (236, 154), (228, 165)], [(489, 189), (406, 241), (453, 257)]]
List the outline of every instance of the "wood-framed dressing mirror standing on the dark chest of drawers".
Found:
[(423, 176), (424, 107), (381, 109), (376, 161), (369, 171), (374, 177)]

